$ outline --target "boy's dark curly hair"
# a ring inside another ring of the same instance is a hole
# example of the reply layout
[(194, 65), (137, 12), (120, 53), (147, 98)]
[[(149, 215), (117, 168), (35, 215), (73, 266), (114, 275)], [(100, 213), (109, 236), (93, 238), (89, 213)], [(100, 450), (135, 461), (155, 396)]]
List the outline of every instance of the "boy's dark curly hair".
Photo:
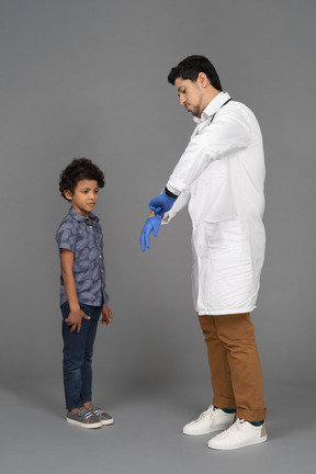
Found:
[(100, 168), (88, 158), (75, 158), (59, 177), (59, 191), (63, 198), (67, 199), (64, 191), (74, 193), (78, 181), (89, 179), (98, 181), (99, 188), (104, 188), (104, 173)]

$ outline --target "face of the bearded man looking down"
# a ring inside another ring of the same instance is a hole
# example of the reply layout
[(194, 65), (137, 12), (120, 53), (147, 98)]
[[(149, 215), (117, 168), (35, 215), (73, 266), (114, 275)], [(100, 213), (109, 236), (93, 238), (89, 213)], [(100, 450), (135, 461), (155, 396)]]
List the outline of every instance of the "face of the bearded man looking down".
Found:
[(184, 105), (192, 115), (201, 117), (205, 105), (203, 88), (200, 84), (199, 77), (195, 82), (179, 77), (174, 81), (174, 87), (180, 98), (180, 105)]

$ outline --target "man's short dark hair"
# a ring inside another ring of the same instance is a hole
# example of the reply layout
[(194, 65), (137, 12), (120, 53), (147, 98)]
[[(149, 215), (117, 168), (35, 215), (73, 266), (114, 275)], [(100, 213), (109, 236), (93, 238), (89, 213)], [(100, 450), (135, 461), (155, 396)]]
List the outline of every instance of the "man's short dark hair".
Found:
[(222, 84), (216, 69), (205, 56), (188, 56), (178, 66), (173, 67), (168, 75), (168, 82), (174, 86), (176, 79), (190, 79), (195, 82), (199, 72), (204, 72), (207, 76), (211, 84), (222, 91)]

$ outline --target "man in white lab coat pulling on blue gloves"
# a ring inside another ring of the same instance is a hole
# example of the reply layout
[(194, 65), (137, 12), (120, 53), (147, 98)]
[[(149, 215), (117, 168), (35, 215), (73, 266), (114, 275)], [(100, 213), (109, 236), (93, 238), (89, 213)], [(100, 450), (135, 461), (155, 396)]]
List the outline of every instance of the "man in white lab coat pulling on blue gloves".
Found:
[(230, 450), (267, 440), (262, 374), (250, 312), (256, 307), (264, 258), (264, 157), (259, 124), (244, 104), (222, 91), (203, 56), (172, 68), (180, 104), (196, 127), (165, 191), (149, 203), (140, 244), (158, 235), (187, 204), (192, 219), (192, 286), (204, 334), (213, 405), (184, 435), (222, 431), (207, 445)]

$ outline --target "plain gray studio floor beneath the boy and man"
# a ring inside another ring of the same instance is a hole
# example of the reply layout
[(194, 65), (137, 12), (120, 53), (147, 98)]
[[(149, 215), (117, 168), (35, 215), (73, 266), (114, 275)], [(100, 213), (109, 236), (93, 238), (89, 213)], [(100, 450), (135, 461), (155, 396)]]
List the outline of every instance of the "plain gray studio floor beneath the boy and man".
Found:
[[(83, 430), (63, 419), (60, 380), (29, 380), (0, 391), (1, 474), (315, 474), (315, 387), (266, 383), (269, 441), (230, 452), (206, 448), (210, 436), (182, 436), (207, 405), (208, 387), (108, 387), (112, 427)], [(94, 388), (97, 402), (102, 384)], [(202, 400), (203, 398), (203, 400)]]

